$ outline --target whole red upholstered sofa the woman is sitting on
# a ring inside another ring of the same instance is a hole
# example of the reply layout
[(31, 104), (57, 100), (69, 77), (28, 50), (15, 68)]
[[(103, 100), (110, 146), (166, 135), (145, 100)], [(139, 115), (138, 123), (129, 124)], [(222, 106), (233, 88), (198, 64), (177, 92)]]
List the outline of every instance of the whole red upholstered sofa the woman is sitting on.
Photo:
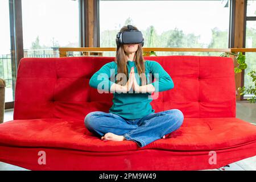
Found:
[(23, 58), (14, 120), (0, 125), (0, 161), (35, 170), (197, 170), (256, 155), (256, 126), (236, 118), (231, 58), (144, 59), (158, 61), (175, 85), (159, 92), (152, 107), (180, 109), (185, 117), (166, 139), (139, 148), (130, 140), (101, 140), (85, 128), (86, 114), (112, 105), (112, 93), (100, 94), (88, 82), (114, 57)]

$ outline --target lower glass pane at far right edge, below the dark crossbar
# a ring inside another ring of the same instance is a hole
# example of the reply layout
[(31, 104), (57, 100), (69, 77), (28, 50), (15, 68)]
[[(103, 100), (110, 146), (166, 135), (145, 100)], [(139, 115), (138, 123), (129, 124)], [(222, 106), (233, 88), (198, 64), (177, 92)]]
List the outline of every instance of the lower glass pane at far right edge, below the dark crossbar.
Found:
[[(246, 22), (246, 48), (256, 47), (256, 21)], [(253, 79), (248, 75), (250, 71), (256, 71), (256, 52), (246, 52), (247, 68), (245, 69), (245, 86), (253, 86)], [(250, 95), (246, 95), (250, 96)], [(245, 97), (246, 97), (245, 96)]]

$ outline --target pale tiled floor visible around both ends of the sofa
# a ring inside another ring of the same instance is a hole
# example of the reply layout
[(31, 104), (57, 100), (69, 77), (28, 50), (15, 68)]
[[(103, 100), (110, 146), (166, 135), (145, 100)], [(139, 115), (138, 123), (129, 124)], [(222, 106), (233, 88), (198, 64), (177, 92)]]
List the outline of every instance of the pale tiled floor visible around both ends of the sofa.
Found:
[[(254, 123), (256, 125), (256, 104), (250, 104), (247, 101), (237, 101), (237, 113), (236, 117), (243, 119), (244, 121), (248, 121), (250, 123)], [(13, 120), (13, 109), (5, 110), (5, 121)], [(17, 166), (13, 166), (10, 164), (0, 162), (0, 171), (5, 170), (27, 170), (24, 168), (20, 168)], [(218, 168), (218, 169), (208, 169), (213, 171), (256, 171), (256, 156), (251, 158), (240, 160), (236, 163), (229, 164), (229, 166)]]

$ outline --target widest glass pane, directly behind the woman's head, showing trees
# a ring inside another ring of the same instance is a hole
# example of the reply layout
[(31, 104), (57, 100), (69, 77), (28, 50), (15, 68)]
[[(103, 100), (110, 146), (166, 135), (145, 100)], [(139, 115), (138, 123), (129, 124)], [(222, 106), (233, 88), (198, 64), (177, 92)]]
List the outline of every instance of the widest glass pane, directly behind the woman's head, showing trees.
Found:
[[(132, 24), (142, 31), (144, 47), (228, 48), (229, 9), (229, 1), (100, 1), (100, 47), (116, 47), (117, 32)], [(157, 53), (174, 54), (221, 53)]]

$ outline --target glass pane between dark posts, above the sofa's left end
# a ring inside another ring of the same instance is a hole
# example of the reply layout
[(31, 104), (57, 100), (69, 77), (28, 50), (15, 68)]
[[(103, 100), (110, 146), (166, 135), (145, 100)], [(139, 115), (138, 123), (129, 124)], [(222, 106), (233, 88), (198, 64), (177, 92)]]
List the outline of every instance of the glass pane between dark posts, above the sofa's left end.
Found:
[(79, 47), (79, 3), (22, 0), (24, 57), (59, 57), (59, 47)]

